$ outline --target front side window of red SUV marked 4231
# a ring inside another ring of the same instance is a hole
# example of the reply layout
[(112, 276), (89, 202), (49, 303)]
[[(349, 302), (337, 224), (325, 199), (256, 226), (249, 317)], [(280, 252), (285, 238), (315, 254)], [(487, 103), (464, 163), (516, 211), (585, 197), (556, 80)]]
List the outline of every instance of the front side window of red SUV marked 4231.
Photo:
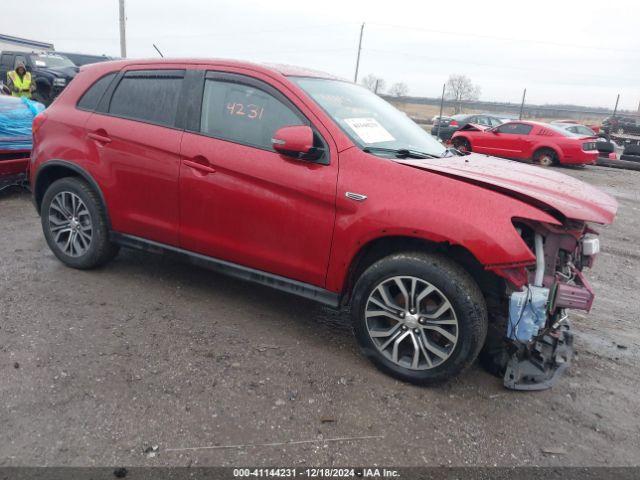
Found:
[(271, 94), (241, 83), (206, 79), (200, 132), (272, 150), (271, 138), (284, 126), (306, 123)]

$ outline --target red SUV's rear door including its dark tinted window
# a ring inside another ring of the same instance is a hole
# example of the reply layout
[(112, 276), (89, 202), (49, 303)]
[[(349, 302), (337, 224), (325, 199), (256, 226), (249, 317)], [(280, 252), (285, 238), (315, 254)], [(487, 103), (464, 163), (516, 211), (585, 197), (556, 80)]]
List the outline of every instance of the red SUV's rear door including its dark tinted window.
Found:
[(183, 80), (184, 69), (129, 70), (86, 124), (113, 229), (174, 246)]

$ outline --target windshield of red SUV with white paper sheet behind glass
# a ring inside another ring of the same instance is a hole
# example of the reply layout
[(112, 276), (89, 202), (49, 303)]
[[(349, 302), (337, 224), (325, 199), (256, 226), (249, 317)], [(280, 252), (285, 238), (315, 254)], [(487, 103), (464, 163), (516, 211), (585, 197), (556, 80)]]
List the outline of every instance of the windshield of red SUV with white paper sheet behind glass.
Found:
[(446, 147), (431, 134), (364, 87), (323, 78), (293, 77), (292, 80), (360, 148), (408, 149), (437, 157), (447, 153)]

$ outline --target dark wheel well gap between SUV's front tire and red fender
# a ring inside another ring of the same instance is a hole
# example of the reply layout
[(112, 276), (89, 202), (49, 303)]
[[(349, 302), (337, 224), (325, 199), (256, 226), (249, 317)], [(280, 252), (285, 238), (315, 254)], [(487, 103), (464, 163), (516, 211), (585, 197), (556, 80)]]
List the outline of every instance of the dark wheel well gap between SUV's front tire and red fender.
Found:
[(447, 256), (472, 276), (485, 296), (499, 294), (504, 289), (505, 280), (486, 270), (469, 250), (460, 245), (411, 236), (383, 236), (362, 245), (352, 258), (342, 287), (341, 303), (346, 305), (351, 302), (353, 288), (369, 266), (386, 256), (407, 251)]

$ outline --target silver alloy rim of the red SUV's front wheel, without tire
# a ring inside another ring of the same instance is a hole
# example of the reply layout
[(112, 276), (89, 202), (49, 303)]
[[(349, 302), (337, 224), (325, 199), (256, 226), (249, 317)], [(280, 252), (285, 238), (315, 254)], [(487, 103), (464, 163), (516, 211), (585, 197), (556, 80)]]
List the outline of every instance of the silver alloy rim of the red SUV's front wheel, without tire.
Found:
[(458, 318), (451, 302), (417, 277), (380, 282), (367, 299), (365, 322), (378, 351), (411, 370), (441, 365), (458, 342)]

